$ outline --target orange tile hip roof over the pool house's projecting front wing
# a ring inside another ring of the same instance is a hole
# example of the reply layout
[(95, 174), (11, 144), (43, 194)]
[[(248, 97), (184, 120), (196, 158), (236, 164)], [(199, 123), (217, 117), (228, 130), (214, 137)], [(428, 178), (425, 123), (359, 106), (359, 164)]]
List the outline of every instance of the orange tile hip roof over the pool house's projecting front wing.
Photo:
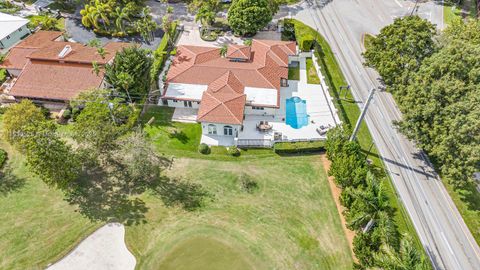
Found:
[(244, 88), (231, 71), (224, 73), (203, 93), (197, 121), (241, 125), (246, 102)]

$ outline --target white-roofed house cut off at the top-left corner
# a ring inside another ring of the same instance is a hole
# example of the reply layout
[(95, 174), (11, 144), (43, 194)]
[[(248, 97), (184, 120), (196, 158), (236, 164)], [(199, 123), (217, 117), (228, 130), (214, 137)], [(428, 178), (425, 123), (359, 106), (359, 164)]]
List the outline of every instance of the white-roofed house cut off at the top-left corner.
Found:
[(28, 20), (0, 12), (0, 50), (8, 49), (30, 34)]

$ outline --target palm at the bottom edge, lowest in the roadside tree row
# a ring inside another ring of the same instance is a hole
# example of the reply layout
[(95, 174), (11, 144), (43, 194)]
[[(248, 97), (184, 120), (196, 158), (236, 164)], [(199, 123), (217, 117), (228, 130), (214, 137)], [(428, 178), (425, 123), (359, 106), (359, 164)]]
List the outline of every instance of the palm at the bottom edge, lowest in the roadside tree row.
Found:
[(429, 269), (425, 258), (415, 248), (408, 236), (400, 242), (398, 252), (386, 245), (380, 253), (374, 255), (375, 265), (381, 269), (391, 270), (426, 270)]

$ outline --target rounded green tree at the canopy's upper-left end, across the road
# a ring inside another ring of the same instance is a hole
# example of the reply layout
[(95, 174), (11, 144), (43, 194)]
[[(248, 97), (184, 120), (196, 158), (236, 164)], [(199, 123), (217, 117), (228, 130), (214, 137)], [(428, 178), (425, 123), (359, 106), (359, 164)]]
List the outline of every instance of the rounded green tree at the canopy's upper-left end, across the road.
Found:
[(434, 36), (435, 26), (418, 16), (395, 19), (368, 43), (365, 64), (375, 68), (387, 86), (404, 84), (435, 52)]

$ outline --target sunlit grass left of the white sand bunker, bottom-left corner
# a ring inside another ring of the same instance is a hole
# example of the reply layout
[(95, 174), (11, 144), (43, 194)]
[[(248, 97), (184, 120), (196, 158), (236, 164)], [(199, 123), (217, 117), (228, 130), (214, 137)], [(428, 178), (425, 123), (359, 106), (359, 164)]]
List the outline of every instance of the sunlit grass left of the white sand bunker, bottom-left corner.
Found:
[(0, 269), (44, 269), (101, 224), (82, 217), (62, 192), (32, 176), (3, 139), (0, 148), (8, 152), (3, 170), (13, 172), (0, 179)]

